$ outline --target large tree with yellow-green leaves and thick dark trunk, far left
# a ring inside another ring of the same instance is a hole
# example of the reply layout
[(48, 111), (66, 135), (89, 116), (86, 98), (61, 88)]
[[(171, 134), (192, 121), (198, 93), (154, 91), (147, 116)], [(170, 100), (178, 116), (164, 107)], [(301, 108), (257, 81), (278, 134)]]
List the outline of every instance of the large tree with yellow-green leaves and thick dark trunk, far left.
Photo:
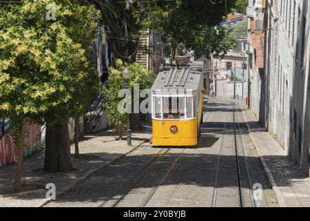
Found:
[[(83, 113), (99, 85), (86, 50), (96, 35), (96, 11), (57, 0), (56, 20), (46, 20), (49, 3), (23, 0), (0, 8), (0, 115), (12, 119), (20, 148), (25, 122), (46, 123), (45, 171), (70, 171), (68, 118)], [(19, 176), (21, 155), (22, 149)]]

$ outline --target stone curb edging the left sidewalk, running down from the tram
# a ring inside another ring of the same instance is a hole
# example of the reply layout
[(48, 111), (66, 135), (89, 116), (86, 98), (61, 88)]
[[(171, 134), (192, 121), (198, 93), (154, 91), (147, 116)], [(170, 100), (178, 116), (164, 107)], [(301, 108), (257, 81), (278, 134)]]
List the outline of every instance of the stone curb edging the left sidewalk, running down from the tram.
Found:
[[(136, 148), (139, 148), (142, 144), (144, 144), (145, 142), (147, 142), (149, 140), (152, 140), (152, 137), (145, 138), (145, 140), (143, 140), (138, 145), (134, 146), (130, 151), (128, 151), (127, 153), (124, 153), (123, 155), (117, 157), (116, 159), (114, 159), (114, 160), (112, 160), (110, 162), (107, 162), (107, 164), (104, 164), (103, 166), (99, 166), (99, 167), (97, 167), (95, 169), (87, 171), (86, 173), (84, 173), (84, 175), (82, 175), (81, 177), (77, 178), (72, 184), (68, 184), (68, 186), (65, 186), (65, 188), (59, 190), (58, 193), (56, 193), (56, 198), (59, 198), (61, 195), (72, 191), (72, 189), (74, 189), (75, 186), (77, 186), (78, 184), (81, 184), (83, 181), (85, 181), (88, 177), (90, 177), (96, 171), (99, 171), (99, 170), (105, 168), (106, 166), (110, 166), (111, 164), (117, 162), (118, 160), (121, 160), (123, 157), (125, 157), (126, 155), (132, 153), (133, 151), (136, 150)], [(43, 199), (43, 200), (41, 200), (41, 202), (35, 204), (33, 207), (43, 207), (43, 206), (45, 206), (46, 204), (49, 204), (52, 201), (54, 201), (54, 200)]]

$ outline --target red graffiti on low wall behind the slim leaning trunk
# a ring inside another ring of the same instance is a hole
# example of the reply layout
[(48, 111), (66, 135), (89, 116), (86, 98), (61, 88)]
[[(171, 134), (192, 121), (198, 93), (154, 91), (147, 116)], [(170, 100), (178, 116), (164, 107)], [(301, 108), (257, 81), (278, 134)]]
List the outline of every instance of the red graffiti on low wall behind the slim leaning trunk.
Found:
[[(23, 152), (24, 156), (31, 155), (34, 150), (41, 146), (40, 126), (30, 124), (26, 132), (26, 148)], [(6, 133), (0, 137), (0, 166), (11, 164), (16, 159), (14, 155), (14, 144), (10, 133)]]

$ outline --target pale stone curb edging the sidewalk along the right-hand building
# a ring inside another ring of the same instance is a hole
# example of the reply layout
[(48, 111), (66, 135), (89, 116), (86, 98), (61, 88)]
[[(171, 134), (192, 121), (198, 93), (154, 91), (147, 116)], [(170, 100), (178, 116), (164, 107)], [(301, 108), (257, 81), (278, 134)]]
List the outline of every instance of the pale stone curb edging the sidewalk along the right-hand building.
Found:
[[(244, 113), (243, 109), (242, 109), (242, 115), (243, 115), (243, 118), (246, 119), (246, 118), (245, 118), (245, 113)], [(253, 136), (252, 136), (252, 132), (251, 132), (251, 130), (250, 130), (250, 126), (249, 126), (249, 124), (248, 124), (248, 122), (247, 122), (246, 120), (245, 120), (245, 124), (247, 124), (247, 128), (248, 128), (248, 131), (249, 131), (249, 136), (250, 136), (250, 138), (251, 138), (251, 141), (253, 142), (254, 146), (256, 146), (256, 148), (258, 148), (258, 145), (257, 145), (256, 142), (254, 141), (254, 138), (253, 138)], [(266, 173), (266, 175), (267, 175), (267, 178), (268, 178), (268, 180), (269, 180), (269, 182), (270, 182), (270, 184), (271, 184), (271, 186), (272, 186), (272, 189), (273, 189), (273, 191), (276, 193), (276, 198), (277, 198), (277, 200), (278, 200), (279, 206), (280, 206), (280, 207), (287, 207), (287, 205), (285, 204), (285, 200), (284, 200), (284, 198), (283, 198), (282, 192), (280, 191), (280, 189), (279, 189), (279, 187), (277, 186), (275, 180), (273, 179), (272, 173), (271, 173), (269, 167), (267, 166), (264, 157), (261, 156), (261, 155), (258, 155), (258, 156), (259, 156), (259, 158), (260, 158), (260, 162), (262, 163), (262, 167), (263, 167), (264, 170), (265, 170), (265, 173)]]

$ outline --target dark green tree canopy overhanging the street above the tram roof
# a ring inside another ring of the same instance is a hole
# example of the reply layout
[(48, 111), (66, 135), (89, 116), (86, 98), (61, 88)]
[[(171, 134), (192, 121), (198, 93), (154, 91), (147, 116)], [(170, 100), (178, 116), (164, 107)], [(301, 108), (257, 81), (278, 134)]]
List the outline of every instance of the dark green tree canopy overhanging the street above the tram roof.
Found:
[[(187, 44), (188, 49), (196, 50), (196, 55), (205, 52), (218, 53), (219, 49), (224, 49), (225, 52), (231, 48), (231, 39), (225, 32), (212, 30), (231, 12), (237, 0), (80, 1), (94, 3), (101, 10), (102, 21), (108, 27), (107, 43), (114, 56), (123, 61), (135, 61), (138, 38), (147, 30), (159, 33), (163, 43), (172, 48), (176, 48), (180, 43)], [(203, 35), (206, 30), (210, 30), (213, 35)], [(224, 42), (214, 41), (209, 44), (208, 38), (212, 40), (214, 35), (216, 39), (223, 39)], [(205, 38), (204, 41), (201, 41), (202, 38)]]

